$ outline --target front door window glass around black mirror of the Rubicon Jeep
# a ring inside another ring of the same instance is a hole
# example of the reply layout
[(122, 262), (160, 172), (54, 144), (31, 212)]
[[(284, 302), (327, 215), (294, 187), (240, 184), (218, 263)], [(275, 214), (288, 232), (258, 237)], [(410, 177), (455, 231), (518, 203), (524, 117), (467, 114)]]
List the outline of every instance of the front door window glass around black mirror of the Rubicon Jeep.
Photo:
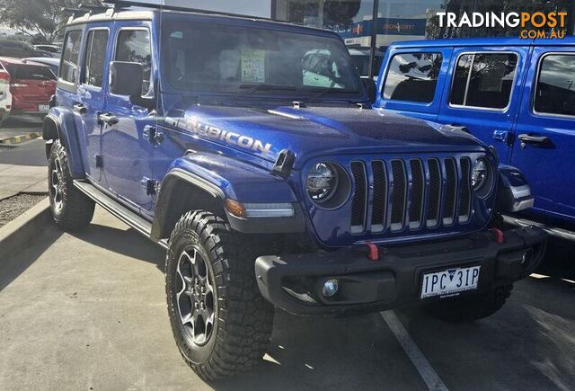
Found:
[(137, 62), (144, 67), (142, 95), (152, 86), (152, 49), (150, 32), (147, 30), (120, 30), (116, 42), (116, 61)]

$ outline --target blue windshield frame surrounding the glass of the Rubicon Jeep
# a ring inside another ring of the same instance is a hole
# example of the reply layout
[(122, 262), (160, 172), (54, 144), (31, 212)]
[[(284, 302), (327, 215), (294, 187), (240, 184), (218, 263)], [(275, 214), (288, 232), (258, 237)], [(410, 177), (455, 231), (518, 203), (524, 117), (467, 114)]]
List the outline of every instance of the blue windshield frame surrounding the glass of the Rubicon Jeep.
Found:
[[(237, 93), (242, 93), (243, 90), (238, 89), (238, 91), (214, 91), (207, 89), (190, 89), (182, 88), (177, 85), (173, 85), (167, 75), (167, 56), (164, 56), (164, 33), (167, 29), (167, 25), (173, 22), (204, 22), (212, 25), (226, 25), (234, 27), (242, 27), (254, 30), (267, 30), (267, 31), (281, 31), (282, 33), (294, 33), (299, 35), (307, 35), (314, 37), (321, 37), (329, 40), (333, 40), (334, 44), (341, 46), (341, 50), (348, 57), (349, 64), (353, 73), (354, 81), (357, 85), (357, 90), (353, 93), (338, 93), (337, 88), (333, 88), (332, 91), (335, 92), (325, 93), (319, 99), (315, 99), (314, 96), (323, 91), (330, 91), (330, 88), (323, 88), (318, 86), (308, 86), (305, 88), (297, 88), (296, 93), (286, 92), (286, 91), (274, 91), (273, 89), (262, 89), (255, 93), (245, 94), (242, 98), (246, 99), (261, 99), (261, 98), (279, 98), (279, 99), (290, 99), (291, 101), (340, 101), (340, 102), (368, 102), (367, 92), (365, 85), (361, 81), (361, 77), (358, 74), (358, 70), (353, 66), (353, 61), (349, 54), (348, 49), (345, 46), (341, 37), (332, 31), (325, 31), (321, 29), (315, 29), (310, 27), (296, 26), (284, 22), (267, 22), (261, 20), (244, 19), (239, 17), (229, 17), (229, 16), (218, 16), (218, 15), (200, 15), (194, 13), (173, 13), (164, 12), (161, 13), (161, 18), (158, 22), (159, 40), (157, 40), (158, 47), (158, 58), (160, 61), (160, 77), (159, 82), (161, 86), (162, 93), (180, 93), (190, 96), (226, 96), (233, 97)], [(305, 93), (302, 93), (305, 92)]]

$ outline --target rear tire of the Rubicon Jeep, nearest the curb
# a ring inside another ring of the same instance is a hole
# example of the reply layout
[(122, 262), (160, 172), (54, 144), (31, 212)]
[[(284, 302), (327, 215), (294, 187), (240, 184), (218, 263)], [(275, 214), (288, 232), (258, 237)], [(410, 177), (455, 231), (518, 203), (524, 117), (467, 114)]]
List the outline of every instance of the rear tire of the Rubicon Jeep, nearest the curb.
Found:
[[(54, 170), (57, 168), (57, 164), (59, 164), (61, 170), (61, 175), (59, 175), (58, 180), (61, 182), (61, 188), (59, 190), (61, 205), (59, 206), (55, 198), (57, 190), (54, 188), (54, 184), (57, 182), (54, 179)], [(93, 218), (94, 201), (74, 187), (72, 175), (70, 175), (70, 169), (68, 167), (66, 148), (62, 146), (59, 139), (54, 141), (50, 148), (48, 159), (48, 191), (50, 211), (58, 227), (66, 231), (79, 231), (90, 224)]]

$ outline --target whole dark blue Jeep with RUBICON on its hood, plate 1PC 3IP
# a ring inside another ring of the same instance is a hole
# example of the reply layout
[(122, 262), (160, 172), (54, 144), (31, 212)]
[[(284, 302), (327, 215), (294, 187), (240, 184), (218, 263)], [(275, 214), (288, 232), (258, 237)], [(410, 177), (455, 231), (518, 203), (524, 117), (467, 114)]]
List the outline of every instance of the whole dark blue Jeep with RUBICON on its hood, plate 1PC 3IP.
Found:
[(167, 308), (206, 379), (261, 360), (299, 315), (500, 309), (541, 260), (521, 173), (454, 127), (372, 110), (331, 31), (119, 7), (67, 25), (43, 127), (51, 212), (94, 203), (167, 250)]

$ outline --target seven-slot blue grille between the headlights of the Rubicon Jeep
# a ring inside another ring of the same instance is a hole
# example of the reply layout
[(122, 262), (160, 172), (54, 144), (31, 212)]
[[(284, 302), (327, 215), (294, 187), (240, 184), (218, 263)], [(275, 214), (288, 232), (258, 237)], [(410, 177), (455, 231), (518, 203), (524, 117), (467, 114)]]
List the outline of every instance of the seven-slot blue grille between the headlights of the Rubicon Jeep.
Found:
[(437, 228), (471, 218), (469, 157), (353, 161), (350, 168), (352, 234)]

